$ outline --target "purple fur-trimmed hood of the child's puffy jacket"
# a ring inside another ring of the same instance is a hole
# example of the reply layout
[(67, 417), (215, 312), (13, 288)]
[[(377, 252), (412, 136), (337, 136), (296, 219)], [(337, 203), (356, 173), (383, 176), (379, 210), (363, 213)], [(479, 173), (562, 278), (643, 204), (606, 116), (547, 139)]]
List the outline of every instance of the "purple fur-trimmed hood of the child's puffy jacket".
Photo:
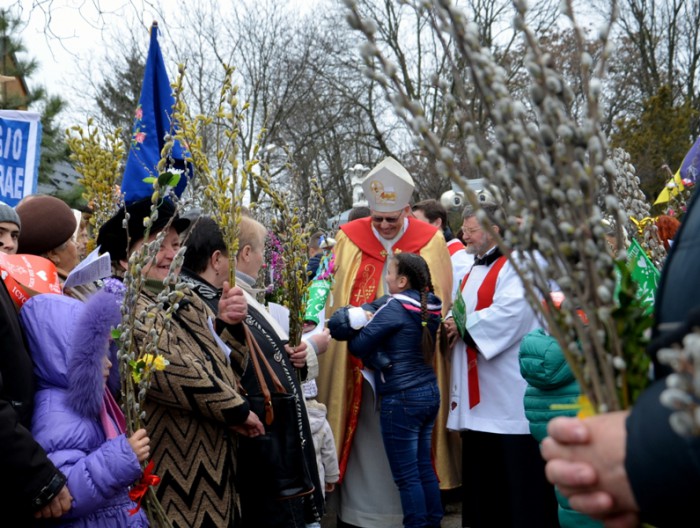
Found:
[(79, 415), (99, 415), (104, 395), (102, 362), (111, 330), (121, 321), (121, 297), (100, 290), (85, 302), (42, 294), (20, 310), (20, 321), (34, 359), (37, 389), (67, 392), (67, 404)]

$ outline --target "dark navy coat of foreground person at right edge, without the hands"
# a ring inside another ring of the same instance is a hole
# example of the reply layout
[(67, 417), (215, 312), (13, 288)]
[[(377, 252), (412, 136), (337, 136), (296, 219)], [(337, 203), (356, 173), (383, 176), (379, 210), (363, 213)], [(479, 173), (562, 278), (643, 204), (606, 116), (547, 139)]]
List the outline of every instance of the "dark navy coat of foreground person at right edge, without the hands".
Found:
[[(654, 359), (656, 351), (681, 343), (700, 325), (698, 199), (695, 192), (661, 273), (650, 346)], [(698, 519), (700, 437), (684, 438), (671, 429), (671, 410), (659, 399), (668, 369), (655, 366), (658, 380), (635, 402), (627, 420), (625, 468), (643, 521), (659, 528), (686, 526), (686, 519)]]

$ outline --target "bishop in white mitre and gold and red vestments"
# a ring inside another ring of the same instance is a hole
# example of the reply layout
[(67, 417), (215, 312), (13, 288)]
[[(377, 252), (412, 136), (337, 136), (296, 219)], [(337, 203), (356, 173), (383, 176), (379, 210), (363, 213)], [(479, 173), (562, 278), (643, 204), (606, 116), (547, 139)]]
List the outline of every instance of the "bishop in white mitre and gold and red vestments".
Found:
[[(430, 268), (435, 293), (450, 305), (452, 265), (440, 229), (410, 218), (413, 180), (393, 158), (377, 165), (363, 181), (371, 216), (344, 224), (336, 236), (335, 277), (329, 316), (348, 304), (359, 306), (381, 297), (387, 256), (418, 253)], [(328, 407), (328, 421), (340, 462), (339, 526), (394, 528), (403, 525), (398, 490), (383, 449), (374, 394), (363, 378), (361, 361), (348, 354), (345, 342), (331, 341), (319, 356), (319, 401)], [(439, 352), (435, 368), (441, 408), (433, 433), (434, 460), (442, 489), (461, 484), (460, 442), (445, 428), (449, 399), (448, 363)]]

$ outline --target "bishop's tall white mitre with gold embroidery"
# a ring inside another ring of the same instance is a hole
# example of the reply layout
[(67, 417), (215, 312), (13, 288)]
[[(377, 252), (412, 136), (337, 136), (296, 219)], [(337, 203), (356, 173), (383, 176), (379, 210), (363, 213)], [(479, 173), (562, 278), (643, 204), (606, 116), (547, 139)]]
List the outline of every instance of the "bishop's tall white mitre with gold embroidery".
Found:
[(385, 158), (362, 180), (369, 208), (380, 213), (393, 213), (406, 207), (414, 187), (411, 175), (392, 157)]

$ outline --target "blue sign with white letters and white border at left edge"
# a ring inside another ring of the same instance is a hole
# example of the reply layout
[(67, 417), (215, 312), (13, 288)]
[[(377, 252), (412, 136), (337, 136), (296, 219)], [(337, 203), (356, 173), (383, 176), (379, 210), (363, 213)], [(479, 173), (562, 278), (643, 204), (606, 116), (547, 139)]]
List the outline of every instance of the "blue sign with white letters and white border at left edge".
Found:
[(0, 110), (0, 201), (14, 207), (36, 191), (40, 145), (39, 114)]

